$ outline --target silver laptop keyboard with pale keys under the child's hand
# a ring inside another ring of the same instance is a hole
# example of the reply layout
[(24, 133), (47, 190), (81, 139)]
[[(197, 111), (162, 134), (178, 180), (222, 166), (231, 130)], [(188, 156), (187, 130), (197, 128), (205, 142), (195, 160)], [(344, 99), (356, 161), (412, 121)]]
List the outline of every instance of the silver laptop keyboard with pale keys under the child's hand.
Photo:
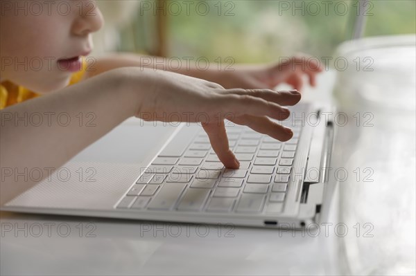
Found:
[[(229, 147), (241, 165), (226, 169), (205, 131), (183, 147), (168, 144), (116, 205), (117, 209), (187, 212), (283, 212), (302, 124), (282, 125), (293, 138), (280, 142), (248, 127), (227, 127)], [(231, 124), (231, 122), (229, 122)], [(179, 142), (180, 143), (180, 142)]]

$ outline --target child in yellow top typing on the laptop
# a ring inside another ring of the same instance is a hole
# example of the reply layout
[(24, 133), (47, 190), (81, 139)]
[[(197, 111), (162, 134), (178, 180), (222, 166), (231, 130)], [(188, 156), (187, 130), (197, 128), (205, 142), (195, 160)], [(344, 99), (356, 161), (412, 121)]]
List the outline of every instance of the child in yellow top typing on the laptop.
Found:
[[(299, 57), (232, 72), (180, 68), (172, 73), (144, 68), (137, 55), (99, 59), (92, 70), (84, 63), (80, 71), (81, 57), (92, 50), (91, 34), (103, 25), (101, 12), (91, 9), (94, 1), (0, 3), (2, 174), (3, 168), (60, 167), (131, 116), (201, 122), (220, 161), (238, 168), (224, 119), (288, 140), (291, 129), (268, 117), (287, 118), (289, 111), (281, 106), (296, 104), (301, 95), (270, 89), (281, 82), (300, 89), (302, 74), (314, 85), (322, 71), (318, 64), (305, 67), (306, 59)], [(179, 116), (166, 116), (171, 113)], [(87, 124), (91, 120), (93, 127)], [(18, 180), (2, 177), (1, 204), (37, 182)]]

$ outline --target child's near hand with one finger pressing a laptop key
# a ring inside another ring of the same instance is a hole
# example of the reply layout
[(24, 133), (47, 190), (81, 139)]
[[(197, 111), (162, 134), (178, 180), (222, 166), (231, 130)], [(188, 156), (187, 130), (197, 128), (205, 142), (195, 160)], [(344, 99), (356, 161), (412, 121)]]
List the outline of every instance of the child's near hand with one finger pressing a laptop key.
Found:
[(281, 141), (293, 136), (291, 129), (272, 122), (268, 117), (277, 120), (288, 118), (288, 109), (281, 105), (299, 102), (301, 95), (297, 91), (227, 90), (213, 82), (166, 71), (150, 73), (149, 79), (150, 92), (141, 98), (135, 116), (146, 121), (201, 122), (225, 167), (236, 169), (239, 162), (229, 149), (224, 119)]

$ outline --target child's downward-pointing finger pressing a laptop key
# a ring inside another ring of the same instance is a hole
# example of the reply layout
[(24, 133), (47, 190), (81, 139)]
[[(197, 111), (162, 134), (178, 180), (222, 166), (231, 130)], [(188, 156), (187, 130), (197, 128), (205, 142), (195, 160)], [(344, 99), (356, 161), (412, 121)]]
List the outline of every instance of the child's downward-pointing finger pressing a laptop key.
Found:
[(209, 142), (211, 142), (212, 149), (218, 156), (218, 159), (231, 169), (238, 169), (240, 167), (239, 160), (229, 149), (227, 132), (225, 131), (224, 121), (220, 120), (217, 123), (202, 124), (205, 132), (208, 134)]

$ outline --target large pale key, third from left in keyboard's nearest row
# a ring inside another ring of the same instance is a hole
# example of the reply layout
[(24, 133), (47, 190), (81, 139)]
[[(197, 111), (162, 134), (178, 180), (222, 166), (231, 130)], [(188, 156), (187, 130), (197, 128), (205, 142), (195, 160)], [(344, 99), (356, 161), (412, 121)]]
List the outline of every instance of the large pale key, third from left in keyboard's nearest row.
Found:
[(159, 193), (150, 201), (148, 209), (169, 210), (175, 205), (187, 184), (171, 183), (163, 185)]

